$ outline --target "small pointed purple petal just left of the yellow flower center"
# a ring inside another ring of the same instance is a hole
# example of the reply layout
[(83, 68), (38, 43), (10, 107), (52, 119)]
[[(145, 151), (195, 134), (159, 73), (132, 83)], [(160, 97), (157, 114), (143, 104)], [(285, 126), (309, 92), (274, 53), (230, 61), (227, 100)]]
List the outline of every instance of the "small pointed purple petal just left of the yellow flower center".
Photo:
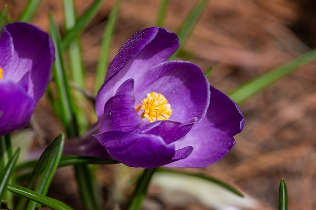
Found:
[(141, 118), (135, 110), (133, 84), (133, 79), (125, 81), (115, 96), (107, 101), (101, 121), (101, 132), (110, 130), (131, 132), (138, 128)]

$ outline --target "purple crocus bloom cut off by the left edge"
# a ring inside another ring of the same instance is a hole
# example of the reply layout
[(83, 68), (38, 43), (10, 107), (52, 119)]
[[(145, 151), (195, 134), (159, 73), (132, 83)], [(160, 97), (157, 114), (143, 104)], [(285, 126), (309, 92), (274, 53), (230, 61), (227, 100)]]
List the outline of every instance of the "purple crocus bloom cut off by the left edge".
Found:
[(23, 128), (47, 87), (55, 49), (27, 23), (5, 25), (0, 37), (0, 136)]

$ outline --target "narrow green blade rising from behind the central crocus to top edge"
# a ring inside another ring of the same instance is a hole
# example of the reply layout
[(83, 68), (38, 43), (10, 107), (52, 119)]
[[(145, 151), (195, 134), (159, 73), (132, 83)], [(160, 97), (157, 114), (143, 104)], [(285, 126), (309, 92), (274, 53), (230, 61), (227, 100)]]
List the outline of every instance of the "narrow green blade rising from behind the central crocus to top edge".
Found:
[(115, 22), (119, 14), (120, 4), (121, 0), (117, 0), (114, 7), (112, 8), (107, 26), (103, 32), (99, 61), (96, 67), (94, 93), (97, 93), (107, 74), (110, 44), (112, 41)]

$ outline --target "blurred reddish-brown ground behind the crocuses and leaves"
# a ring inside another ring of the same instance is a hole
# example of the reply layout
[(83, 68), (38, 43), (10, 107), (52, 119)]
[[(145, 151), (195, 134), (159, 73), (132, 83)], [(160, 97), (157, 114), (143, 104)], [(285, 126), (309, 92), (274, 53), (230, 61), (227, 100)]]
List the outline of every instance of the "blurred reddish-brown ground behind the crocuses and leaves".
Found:
[[(75, 0), (77, 13), (81, 14), (91, 2)], [(155, 25), (159, 2), (122, 1), (111, 58), (136, 31)], [(170, 0), (165, 27), (177, 32), (197, 2)], [(1, 0), (0, 8), (8, 4), (9, 15), (17, 20), (25, 3), (26, 0)], [(105, 1), (82, 34), (83, 62), (90, 91), (102, 33), (113, 5), (113, 0)], [(43, 0), (32, 23), (48, 30), (47, 14), (51, 11), (63, 31), (60, 0)], [(190, 38), (183, 44), (183, 59), (197, 63), (204, 71), (215, 65), (210, 84), (228, 93), (315, 47), (316, 4), (313, 0), (210, 0)], [(236, 136), (234, 149), (210, 167), (186, 170), (213, 175), (244, 190), (260, 201), (261, 205), (254, 209), (277, 209), (279, 183), (284, 177), (290, 209), (315, 209), (315, 68), (313, 62), (241, 105), (246, 121), (244, 130)], [(62, 128), (51, 108), (48, 113), (41, 108), (45, 106), (47, 104), (41, 102), (35, 120), (40, 122), (44, 138), (50, 141)], [(57, 174), (49, 195), (80, 209), (78, 198), (73, 197), (76, 191), (73, 180), (64, 175), (71, 169), (61, 170), (64, 171)], [(116, 170), (114, 166), (99, 169), (105, 200), (111, 194), (113, 170)], [(210, 209), (188, 200), (179, 205), (162, 202), (166, 209)]]

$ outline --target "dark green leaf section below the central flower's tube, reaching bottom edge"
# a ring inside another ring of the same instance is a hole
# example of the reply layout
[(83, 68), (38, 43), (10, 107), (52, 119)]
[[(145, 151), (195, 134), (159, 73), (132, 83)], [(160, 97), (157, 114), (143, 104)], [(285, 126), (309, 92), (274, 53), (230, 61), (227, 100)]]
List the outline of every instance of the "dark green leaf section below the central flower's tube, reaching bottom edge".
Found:
[(81, 201), (85, 209), (100, 209), (93, 189), (94, 182), (91, 170), (85, 164), (75, 165), (75, 174)]

